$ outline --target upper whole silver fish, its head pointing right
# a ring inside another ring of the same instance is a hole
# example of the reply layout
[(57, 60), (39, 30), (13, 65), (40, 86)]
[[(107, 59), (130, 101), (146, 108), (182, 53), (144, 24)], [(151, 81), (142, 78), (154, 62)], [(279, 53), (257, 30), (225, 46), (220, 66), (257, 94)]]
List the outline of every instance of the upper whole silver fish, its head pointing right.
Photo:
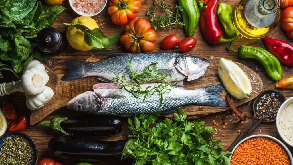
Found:
[(111, 82), (115, 74), (131, 76), (129, 61), (132, 58), (132, 68), (135, 72), (142, 72), (147, 65), (157, 63), (159, 71), (171, 74), (171, 81), (195, 80), (205, 74), (209, 60), (178, 53), (116, 53), (97, 62), (67, 60), (65, 65), (68, 73), (62, 77), (63, 81), (71, 81), (87, 76), (98, 76), (99, 80)]

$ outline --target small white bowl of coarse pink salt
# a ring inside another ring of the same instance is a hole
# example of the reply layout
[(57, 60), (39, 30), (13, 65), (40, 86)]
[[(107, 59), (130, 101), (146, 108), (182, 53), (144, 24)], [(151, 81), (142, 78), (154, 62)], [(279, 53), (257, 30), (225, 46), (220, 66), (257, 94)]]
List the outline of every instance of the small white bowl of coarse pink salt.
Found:
[(107, 0), (69, 0), (72, 10), (80, 16), (95, 16), (105, 9)]

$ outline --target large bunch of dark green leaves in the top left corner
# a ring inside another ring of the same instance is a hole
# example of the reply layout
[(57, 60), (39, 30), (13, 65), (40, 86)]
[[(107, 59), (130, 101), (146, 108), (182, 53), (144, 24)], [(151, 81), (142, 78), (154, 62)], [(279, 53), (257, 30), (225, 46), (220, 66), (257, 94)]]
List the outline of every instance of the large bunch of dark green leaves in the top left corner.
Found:
[(16, 75), (32, 58), (40, 58), (34, 41), (28, 38), (35, 38), (42, 28), (52, 26), (65, 9), (42, 6), (36, 0), (0, 0), (0, 70), (11, 70)]

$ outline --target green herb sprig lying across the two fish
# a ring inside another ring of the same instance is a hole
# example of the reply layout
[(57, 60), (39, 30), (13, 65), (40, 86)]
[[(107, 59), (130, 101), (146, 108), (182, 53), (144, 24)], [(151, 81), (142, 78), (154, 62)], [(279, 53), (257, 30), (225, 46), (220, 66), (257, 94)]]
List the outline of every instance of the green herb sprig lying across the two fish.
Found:
[[(177, 79), (174, 83), (171, 83), (172, 75), (168, 73), (159, 74), (157, 68), (157, 62), (147, 65), (142, 72), (135, 72), (132, 68), (132, 58), (129, 60), (129, 70), (131, 72), (130, 80), (126, 81), (125, 76), (114, 73), (116, 78), (112, 79), (112, 83), (118, 86), (119, 89), (124, 88), (127, 92), (130, 92), (134, 97), (144, 97), (143, 102), (147, 97), (157, 94), (160, 96), (159, 109), (162, 106), (163, 94), (170, 92), (177, 84)], [(141, 87), (140, 83), (160, 82), (154, 86), (148, 86), (145, 89)]]

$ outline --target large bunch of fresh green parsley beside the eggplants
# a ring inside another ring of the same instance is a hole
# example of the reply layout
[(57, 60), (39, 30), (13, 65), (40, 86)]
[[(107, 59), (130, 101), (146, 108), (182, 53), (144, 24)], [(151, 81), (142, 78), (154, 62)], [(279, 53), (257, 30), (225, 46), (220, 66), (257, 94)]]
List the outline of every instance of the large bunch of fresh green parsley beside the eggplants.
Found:
[(205, 127), (202, 121), (186, 121), (181, 108), (174, 117), (175, 122), (166, 118), (152, 128), (156, 115), (129, 118), (132, 135), (122, 157), (130, 157), (134, 165), (230, 165), (231, 152), (223, 152), (220, 140), (212, 139), (212, 127)]

